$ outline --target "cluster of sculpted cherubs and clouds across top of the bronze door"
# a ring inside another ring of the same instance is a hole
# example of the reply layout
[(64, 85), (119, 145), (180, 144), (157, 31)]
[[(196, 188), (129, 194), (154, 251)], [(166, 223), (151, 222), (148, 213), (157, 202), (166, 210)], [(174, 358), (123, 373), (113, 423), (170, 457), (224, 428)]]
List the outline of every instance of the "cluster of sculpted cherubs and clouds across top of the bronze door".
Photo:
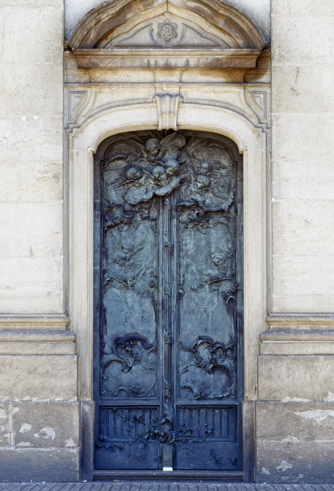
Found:
[[(105, 189), (110, 202), (131, 205), (180, 189), (185, 204), (227, 211), (234, 197), (233, 161), (225, 147), (181, 133), (159, 141), (123, 137), (107, 157)], [(222, 152), (224, 159), (222, 159)], [(209, 160), (210, 159), (210, 160)]]

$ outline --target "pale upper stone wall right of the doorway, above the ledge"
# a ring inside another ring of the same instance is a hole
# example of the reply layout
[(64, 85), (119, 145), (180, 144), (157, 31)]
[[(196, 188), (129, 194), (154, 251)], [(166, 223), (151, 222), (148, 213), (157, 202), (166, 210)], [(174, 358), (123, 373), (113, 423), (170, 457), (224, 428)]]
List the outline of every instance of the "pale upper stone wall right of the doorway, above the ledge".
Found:
[(272, 2), (274, 312), (333, 311), (333, 15)]

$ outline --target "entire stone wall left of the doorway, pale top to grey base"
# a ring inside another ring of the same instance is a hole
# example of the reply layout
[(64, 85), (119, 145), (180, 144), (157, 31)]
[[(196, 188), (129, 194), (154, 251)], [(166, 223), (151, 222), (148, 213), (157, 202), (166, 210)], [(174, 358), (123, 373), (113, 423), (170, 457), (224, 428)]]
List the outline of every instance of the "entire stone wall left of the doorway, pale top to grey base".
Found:
[[(1, 480), (76, 480), (63, 281), (63, 2), (0, 5)], [(47, 333), (49, 331), (49, 333)]]

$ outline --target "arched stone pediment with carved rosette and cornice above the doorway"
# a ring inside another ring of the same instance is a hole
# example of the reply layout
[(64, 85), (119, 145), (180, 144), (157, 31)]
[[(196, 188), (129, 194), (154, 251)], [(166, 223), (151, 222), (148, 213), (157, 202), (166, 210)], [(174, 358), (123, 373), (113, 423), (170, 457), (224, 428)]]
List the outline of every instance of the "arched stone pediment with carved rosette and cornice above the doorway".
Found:
[(252, 68), (266, 42), (220, 0), (120, 0), (93, 11), (69, 46), (82, 68)]

